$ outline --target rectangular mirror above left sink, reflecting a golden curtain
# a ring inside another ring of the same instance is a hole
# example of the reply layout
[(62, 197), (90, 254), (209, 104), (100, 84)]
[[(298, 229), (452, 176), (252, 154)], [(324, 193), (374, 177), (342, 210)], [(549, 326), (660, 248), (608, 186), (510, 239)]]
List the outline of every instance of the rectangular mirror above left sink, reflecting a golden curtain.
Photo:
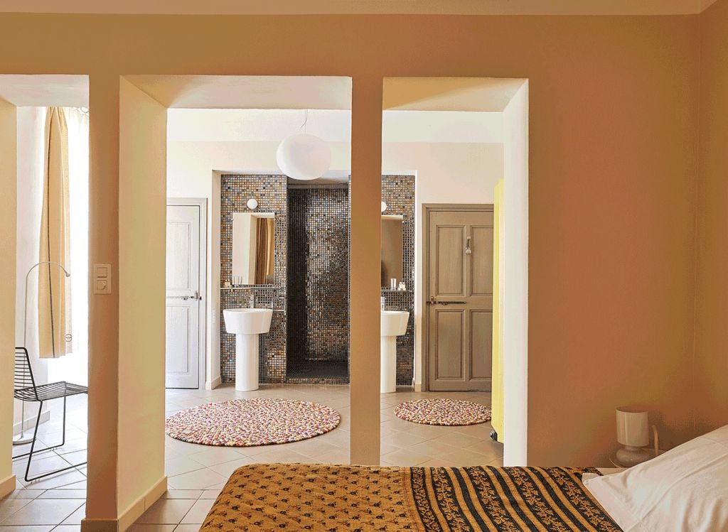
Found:
[(275, 213), (233, 213), (233, 285), (274, 284)]

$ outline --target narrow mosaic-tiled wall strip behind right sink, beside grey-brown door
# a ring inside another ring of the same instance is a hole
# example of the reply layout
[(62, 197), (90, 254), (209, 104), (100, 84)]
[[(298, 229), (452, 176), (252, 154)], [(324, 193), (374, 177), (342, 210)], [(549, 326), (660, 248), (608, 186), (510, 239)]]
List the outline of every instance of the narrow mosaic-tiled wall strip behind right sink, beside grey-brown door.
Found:
[(387, 308), (408, 310), (407, 332), (397, 336), (397, 385), (411, 386), (414, 378), (414, 175), (382, 175), (381, 200), (384, 214), (401, 215), (404, 292), (381, 290)]

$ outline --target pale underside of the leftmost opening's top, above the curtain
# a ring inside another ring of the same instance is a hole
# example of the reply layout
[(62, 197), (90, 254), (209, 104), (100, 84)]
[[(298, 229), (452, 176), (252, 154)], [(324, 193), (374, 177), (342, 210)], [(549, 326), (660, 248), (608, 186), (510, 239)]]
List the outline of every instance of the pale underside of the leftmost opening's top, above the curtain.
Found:
[(0, 99), (18, 107), (88, 107), (88, 76), (0, 75)]

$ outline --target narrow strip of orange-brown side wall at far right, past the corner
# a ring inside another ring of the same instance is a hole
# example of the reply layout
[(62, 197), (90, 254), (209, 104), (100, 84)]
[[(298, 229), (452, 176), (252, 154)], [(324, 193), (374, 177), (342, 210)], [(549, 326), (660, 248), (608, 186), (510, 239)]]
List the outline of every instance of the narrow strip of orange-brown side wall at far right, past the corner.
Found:
[(700, 15), (695, 415), (698, 433), (728, 424), (728, 1)]

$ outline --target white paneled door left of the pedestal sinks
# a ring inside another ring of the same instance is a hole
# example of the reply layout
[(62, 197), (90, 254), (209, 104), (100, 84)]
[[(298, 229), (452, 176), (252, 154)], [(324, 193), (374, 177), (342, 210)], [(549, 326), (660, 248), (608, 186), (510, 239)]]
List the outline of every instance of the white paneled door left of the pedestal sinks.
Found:
[(167, 388), (199, 388), (202, 319), (199, 205), (167, 205)]

